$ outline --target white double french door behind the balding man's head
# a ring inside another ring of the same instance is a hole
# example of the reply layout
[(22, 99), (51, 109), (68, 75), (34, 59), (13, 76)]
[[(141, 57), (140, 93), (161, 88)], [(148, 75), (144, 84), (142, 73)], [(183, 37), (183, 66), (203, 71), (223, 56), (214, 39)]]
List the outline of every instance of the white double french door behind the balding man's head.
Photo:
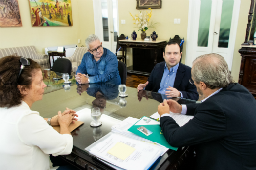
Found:
[(190, 0), (186, 64), (200, 55), (218, 53), (232, 68), (240, 0)]

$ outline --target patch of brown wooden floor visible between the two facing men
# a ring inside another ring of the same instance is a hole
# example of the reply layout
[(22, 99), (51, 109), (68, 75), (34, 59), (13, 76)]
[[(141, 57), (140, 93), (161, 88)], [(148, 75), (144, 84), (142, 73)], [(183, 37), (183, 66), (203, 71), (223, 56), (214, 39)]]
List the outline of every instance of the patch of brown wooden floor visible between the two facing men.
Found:
[(148, 76), (127, 74), (126, 86), (137, 88), (139, 84), (144, 84), (148, 80)]

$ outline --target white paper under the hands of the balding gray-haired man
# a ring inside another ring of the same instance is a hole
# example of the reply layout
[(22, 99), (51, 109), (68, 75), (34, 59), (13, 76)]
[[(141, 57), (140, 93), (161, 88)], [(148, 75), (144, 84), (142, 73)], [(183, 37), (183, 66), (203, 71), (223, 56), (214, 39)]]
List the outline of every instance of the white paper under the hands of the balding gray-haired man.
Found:
[[(172, 117), (176, 121), (176, 123), (181, 127), (185, 125), (190, 119), (194, 118), (194, 116), (187, 116), (187, 115), (182, 115), (179, 113), (172, 113), (172, 112), (169, 113), (169, 116)], [(150, 117), (153, 119), (158, 119), (160, 118), (160, 115), (158, 112), (156, 112)]]

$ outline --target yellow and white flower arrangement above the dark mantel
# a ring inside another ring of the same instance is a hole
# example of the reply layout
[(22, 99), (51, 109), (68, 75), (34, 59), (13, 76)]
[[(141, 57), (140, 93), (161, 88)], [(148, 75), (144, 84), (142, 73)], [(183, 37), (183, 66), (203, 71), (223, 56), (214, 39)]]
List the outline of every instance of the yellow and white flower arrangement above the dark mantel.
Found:
[(152, 16), (152, 9), (149, 8), (149, 10), (151, 10), (150, 12), (145, 11), (143, 12), (139, 12), (139, 14), (136, 14), (135, 16), (133, 16), (131, 13), (130, 15), (132, 16), (134, 23), (136, 24), (135, 28), (138, 28), (138, 31), (146, 31), (148, 30), (148, 28), (152, 28), (153, 24), (150, 24), (150, 19)]

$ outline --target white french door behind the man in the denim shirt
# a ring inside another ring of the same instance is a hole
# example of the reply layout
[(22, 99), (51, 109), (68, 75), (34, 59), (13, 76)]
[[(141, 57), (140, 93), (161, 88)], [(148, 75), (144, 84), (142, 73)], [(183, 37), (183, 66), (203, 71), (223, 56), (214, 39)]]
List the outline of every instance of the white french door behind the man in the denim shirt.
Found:
[(116, 52), (118, 32), (117, 0), (93, 0), (95, 34), (103, 47)]

